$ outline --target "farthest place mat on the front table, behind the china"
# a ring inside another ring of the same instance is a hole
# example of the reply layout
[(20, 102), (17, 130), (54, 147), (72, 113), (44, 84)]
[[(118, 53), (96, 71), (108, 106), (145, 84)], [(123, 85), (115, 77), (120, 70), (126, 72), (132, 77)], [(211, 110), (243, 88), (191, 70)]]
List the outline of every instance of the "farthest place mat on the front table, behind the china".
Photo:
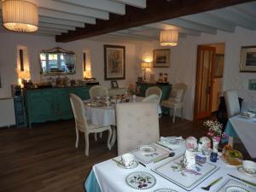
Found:
[(184, 147), (185, 140), (183, 137), (160, 137), (159, 143), (167, 148), (175, 150), (177, 148)]

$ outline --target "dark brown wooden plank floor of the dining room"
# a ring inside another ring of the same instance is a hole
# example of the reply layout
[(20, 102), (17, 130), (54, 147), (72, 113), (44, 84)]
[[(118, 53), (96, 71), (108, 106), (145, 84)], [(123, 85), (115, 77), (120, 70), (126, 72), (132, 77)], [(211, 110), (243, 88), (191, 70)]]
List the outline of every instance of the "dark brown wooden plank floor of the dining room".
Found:
[[(160, 136), (206, 135), (201, 122), (181, 121), (164, 116), (160, 119)], [(74, 147), (73, 120), (34, 125), (32, 130), (0, 130), (0, 191), (59, 192), (84, 191), (84, 179), (91, 167), (117, 155), (116, 147), (107, 148), (107, 133), (95, 142), (90, 137), (90, 156), (84, 156), (84, 137), (79, 149)]]

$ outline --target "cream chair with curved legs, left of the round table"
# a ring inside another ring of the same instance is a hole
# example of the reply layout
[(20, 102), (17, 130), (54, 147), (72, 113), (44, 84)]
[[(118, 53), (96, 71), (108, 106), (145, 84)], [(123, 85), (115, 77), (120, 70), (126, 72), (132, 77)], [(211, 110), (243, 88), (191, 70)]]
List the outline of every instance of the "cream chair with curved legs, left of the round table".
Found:
[(112, 137), (112, 128), (111, 126), (101, 126), (101, 125), (92, 125), (87, 121), (85, 117), (84, 103), (79, 96), (76, 96), (73, 93), (69, 94), (71, 106), (73, 108), (73, 116), (75, 119), (75, 128), (76, 128), (76, 144), (75, 147), (79, 146), (79, 131), (84, 132), (85, 138), (85, 155), (89, 155), (89, 134), (98, 133), (102, 131), (108, 131), (108, 149), (111, 150), (110, 138)]

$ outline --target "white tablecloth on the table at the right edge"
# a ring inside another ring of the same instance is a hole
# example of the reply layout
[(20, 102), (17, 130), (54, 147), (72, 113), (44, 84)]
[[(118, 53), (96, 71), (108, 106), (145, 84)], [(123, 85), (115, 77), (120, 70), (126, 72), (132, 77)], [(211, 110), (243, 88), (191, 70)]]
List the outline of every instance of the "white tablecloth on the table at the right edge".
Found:
[(256, 158), (256, 119), (247, 119), (241, 115), (230, 118), (236, 134), (247, 148), (251, 157)]

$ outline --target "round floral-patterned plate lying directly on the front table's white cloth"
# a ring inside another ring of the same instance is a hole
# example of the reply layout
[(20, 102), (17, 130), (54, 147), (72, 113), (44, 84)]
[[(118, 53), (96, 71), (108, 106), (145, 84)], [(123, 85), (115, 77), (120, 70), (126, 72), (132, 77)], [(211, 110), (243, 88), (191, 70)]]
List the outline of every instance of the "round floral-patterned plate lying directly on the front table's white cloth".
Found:
[(155, 177), (148, 172), (131, 172), (125, 181), (134, 189), (150, 189), (156, 183)]

